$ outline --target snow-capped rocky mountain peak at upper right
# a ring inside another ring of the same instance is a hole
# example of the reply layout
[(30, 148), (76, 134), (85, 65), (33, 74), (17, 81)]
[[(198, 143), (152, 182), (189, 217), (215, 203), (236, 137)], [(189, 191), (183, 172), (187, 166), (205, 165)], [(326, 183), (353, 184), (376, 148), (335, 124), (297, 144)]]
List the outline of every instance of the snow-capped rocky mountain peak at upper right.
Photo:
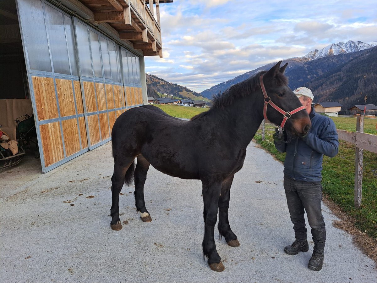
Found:
[(348, 40), (348, 42), (331, 43), (330, 45), (326, 46), (325, 48), (322, 48), (321, 50), (315, 49), (302, 57), (309, 58), (310, 60), (315, 60), (318, 58), (331, 55), (362, 51), (364, 49), (372, 48), (376, 45), (377, 42), (375, 41), (371, 43), (364, 43), (359, 40), (356, 42)]

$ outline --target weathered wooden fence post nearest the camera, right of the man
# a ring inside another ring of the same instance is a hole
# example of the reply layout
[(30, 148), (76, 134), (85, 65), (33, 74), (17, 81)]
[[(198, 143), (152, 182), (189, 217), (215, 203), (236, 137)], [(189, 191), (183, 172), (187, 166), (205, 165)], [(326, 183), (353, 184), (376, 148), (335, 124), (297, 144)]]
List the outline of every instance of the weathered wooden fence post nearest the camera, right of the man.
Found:
[[(357, 116), (356, 119), (356, 132), (364, 132), (364, 117)], [(361, 207), (361, 185), (363, 182), (363, 149), (356, 147), (355, 158), (355, 198), (354, 205), (356, 208)]]

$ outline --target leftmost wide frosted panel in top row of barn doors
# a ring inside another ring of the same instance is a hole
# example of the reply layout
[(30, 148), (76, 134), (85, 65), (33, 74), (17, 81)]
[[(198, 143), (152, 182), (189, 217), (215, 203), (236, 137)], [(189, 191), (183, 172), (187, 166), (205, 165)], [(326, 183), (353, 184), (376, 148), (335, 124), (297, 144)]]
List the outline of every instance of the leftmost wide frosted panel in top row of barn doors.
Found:
[(18, 8), (30, 69), (52, 72), (42, 2), (18, 0)]

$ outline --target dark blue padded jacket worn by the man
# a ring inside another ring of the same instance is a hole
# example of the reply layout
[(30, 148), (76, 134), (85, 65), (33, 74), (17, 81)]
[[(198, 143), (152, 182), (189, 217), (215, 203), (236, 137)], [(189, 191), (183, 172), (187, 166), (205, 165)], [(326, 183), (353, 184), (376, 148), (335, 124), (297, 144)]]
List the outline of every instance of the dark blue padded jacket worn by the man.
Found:
[(323, 154), (334, 157), (338, 153), (339, 140), (335, 124), (329, 117), (319, 115), (311, 108), (311, 128), (305, 138), (293, 137), (290, 141), (274, 141), (276, 149), (287, 152), (284, 175), (298, 181), (322, 180)]

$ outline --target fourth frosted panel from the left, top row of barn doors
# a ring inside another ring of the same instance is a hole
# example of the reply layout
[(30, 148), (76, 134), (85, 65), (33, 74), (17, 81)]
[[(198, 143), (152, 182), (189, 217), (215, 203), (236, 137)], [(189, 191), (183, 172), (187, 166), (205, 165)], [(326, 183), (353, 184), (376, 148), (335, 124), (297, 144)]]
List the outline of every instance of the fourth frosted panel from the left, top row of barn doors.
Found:
[(88, 28), (82, 23), (78, 22), (76, 25), (76, 35), (81, 75), (85, 77), (93, 77), (92, 62), (90, 60)]

